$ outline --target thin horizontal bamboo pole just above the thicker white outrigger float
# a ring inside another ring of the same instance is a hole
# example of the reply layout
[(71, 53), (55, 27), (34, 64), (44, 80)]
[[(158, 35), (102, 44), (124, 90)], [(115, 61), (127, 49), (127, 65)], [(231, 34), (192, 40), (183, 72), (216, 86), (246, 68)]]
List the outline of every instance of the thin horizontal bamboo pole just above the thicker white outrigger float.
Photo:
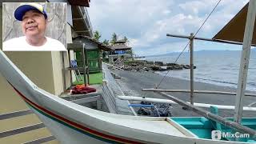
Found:
[[(142, 89), (142, 91), (158, 91), (158, 92), (184, 92), (190, 93), (190, 90), (164, 90), (164, 89)], [(210, 90), (194, 90), (194, 93), (198, 94), (227, 94), (236, 95), (236, 93), (226, 91), (210, 91)], [(247, 97), (256, 97), (256, 94), (245, 94)]]

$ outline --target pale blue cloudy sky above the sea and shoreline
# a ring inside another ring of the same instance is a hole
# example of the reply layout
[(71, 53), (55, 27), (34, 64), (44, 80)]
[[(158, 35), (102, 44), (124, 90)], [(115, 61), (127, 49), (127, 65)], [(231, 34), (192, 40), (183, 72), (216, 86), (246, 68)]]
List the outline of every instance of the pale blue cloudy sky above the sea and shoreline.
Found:
[[(92, 0), (87, 9), (93, 30), (104, 39), (126, 36), (135, 54), (182, 51), (188, 40), (166, 34), (196, 32), (218, 0)], [(222, 0), (197, 34), (213, 38), (249, 0)], [(242, 46), (196, 41), (194, 50), (241, 50)]]

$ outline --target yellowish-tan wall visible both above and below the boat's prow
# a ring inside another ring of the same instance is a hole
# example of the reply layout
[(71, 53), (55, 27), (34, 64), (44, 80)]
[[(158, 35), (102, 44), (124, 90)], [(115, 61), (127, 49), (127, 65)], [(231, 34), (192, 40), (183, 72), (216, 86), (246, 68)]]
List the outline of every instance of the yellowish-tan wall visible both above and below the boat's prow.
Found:
[[(0, 23), (2, 24), (2, 6), (0, 7)], [(0, 26), (0, 49), (2, 50), (2, 26)], [(51, 52), (6, 52), (5, 53), (12, 62), (28, 78), (30, 78), (36, 85), (51, 94), (58, 93), (60, 89), (55, 86), (54, 80), (59, 79), (55, 76), (53, 71), (57, 60), (53, 59)], [(6, 79), (0, 74), (0, 114), (11, 113), (19, 110), (29, 109), (22, 98), (14, 91)], [(34, 125), (40, 123), (40, 120), (35, 114), (28, 114), (17, 118), (9, 118), (0, 120), (0, 133), (7, 130), (14, 130), (24, 126)], [(50, 136), (50, 131), (46, 128), (31, 130), (22, 134), (15, 134), (13, 136), (0, 138), (0, 143), (23, 143), (30, 142), (38, 138)], [(47, 143), (59, 143), (57, 140)]]

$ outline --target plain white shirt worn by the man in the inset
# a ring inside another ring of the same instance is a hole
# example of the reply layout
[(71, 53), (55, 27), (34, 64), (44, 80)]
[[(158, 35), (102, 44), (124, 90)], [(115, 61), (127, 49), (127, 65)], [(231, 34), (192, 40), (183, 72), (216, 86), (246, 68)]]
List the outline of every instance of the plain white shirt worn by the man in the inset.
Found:
[(62, 42), (46, 37), (46, 43), (42, 46), (31, 46), (26, 42), (26, 36), (12, 38), (2, 44), (4, 51), (66, 51)]

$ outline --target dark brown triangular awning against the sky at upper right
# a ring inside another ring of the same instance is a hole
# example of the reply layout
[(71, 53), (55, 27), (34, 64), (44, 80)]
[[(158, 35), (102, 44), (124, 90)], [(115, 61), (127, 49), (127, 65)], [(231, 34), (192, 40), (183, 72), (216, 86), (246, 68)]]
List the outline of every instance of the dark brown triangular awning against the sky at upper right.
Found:
[[(214, 36), (213, 39), (231, 41), (231, 42), (242, 42), (244, 32), (245, 32), (245, 27), (246, 27), (246, 17), (247, 17), (248, 6), (249, 4), (247, 3), (246, 6), (244, 6), (242, 10), (240, 10), (238, 14), (236, 14), (234, 18), (232, 18), (230, 22), (228, 22), (226, 26), (224, 26), (222, 30), (220, 30), (218, 34)], [(256, 25), (254, 24), (254, 34), (253, 34), (253, 39), (251, 43), (252, 45), (256, 45), (256, 28), (255, 27)]]

